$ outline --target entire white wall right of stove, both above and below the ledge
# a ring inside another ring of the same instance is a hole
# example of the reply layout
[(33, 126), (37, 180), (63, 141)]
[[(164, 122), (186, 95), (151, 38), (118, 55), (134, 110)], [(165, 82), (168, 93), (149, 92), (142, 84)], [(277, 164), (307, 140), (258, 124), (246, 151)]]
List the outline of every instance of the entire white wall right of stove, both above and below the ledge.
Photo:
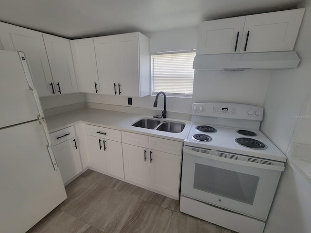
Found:
[[(264, 100), (261, 130), (286, 153), (292, 142), (311, 145), (311, 3), (304, 1), (305, 16), (294, 50), (301, 59), (298, 68), (272, 72)], [(299, 126), (299, 127), (298, 127)], [(287, 164), (281, 177), (264, 233), (311, 232), (311, 184)]]

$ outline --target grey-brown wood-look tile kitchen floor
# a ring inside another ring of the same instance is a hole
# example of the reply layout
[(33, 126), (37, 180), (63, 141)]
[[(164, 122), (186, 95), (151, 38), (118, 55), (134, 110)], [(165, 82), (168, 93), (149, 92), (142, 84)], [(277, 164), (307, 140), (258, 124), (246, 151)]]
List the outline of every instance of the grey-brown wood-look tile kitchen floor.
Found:
[(68, 199), (27, 233), (233, 233), (179, 211), (179, 201), (87, 170)]

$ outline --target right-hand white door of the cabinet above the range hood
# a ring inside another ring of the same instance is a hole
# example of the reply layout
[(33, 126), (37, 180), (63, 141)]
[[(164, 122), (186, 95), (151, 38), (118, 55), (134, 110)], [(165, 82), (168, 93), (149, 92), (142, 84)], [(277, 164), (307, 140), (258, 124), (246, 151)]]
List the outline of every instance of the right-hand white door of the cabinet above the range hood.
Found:
[(294, 9), (246, 16), (240, 52), (293, 50), (304, 12)]

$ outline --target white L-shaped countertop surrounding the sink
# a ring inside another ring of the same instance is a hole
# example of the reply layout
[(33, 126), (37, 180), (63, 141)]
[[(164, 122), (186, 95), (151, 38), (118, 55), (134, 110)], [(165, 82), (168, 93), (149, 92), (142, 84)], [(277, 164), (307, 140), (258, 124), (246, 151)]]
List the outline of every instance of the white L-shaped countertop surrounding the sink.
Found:
[(101, 110), (95, 108), (81, 108), (53, 116), (47, 116), (45, 119), (50, 133), (74, 125), (77, 122), (83, 122), (110, 129), (116, 129), (131, 133), (140, 133), (148, 136), (156, 136), (181, 142), (183, 142), (186, 138), (191, 126), (191, 121), (189, 120), (180, 120), (173, 118), (162, 118), (159, 120), (183, 122), (186, 126), (181, 133), (169, 133), (132, 126), (133, 123), (141, 118), (152, 118), (152, 116)]

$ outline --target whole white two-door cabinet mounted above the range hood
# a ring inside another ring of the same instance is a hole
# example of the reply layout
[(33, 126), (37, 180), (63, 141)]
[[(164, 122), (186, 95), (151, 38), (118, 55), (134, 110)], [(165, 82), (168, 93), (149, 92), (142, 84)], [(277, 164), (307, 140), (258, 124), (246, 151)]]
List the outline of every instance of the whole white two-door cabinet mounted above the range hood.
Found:
[(197, 54), (293, 50), (305, 9), (202, 22)]

